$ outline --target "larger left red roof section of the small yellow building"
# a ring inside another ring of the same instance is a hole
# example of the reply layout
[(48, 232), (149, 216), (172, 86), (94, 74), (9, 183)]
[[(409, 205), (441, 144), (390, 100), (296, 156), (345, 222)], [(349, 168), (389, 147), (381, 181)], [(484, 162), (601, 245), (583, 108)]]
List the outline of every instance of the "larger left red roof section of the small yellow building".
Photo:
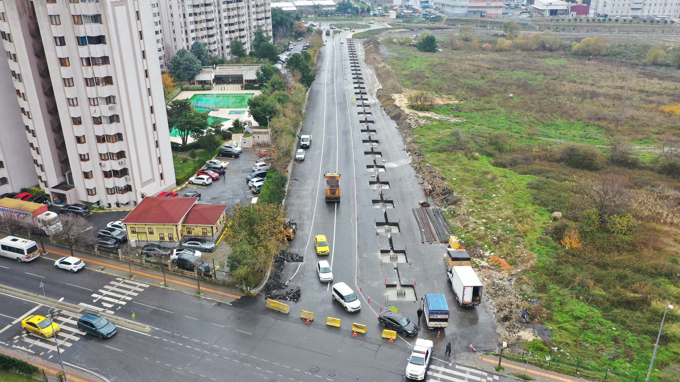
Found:
[(198, 199), (198, 197), (148, 196), (125, 216), (122, 223), (179, 224)]

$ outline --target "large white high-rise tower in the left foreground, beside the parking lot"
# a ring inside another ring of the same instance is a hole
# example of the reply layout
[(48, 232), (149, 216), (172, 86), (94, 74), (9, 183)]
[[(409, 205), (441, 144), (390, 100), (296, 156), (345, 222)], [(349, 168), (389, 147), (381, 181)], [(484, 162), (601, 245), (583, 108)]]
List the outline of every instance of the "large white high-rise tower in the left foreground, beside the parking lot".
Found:
[[(0, 76), (12, 75), (21, 115), (0, 132), (24, 132), (51, 197), (133, 206), (174, 185), (153, 9), (148, 0), (0, 1), (10, 67)], [(14, 107), (0, 104), (3, 115)]]

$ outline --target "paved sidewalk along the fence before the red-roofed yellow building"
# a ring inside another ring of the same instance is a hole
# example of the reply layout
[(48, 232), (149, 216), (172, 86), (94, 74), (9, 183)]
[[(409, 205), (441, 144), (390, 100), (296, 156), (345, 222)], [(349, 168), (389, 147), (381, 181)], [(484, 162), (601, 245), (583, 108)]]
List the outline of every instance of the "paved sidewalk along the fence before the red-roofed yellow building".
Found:
[[(49, 243), (45, 243), (45, 250), (47, 251), (47, 254), (42, 257), (46, 259), (56, 260), (63, 256), (71, 256), (69, 250)], [(132, 274), (135, 276), (134, 279), (136, 281), (159, 287), (163, 282), (163, 273), (161, 273), (160, 269), (142, 267), (141, 265), (136, 264), (133, 264), (132, 267), (130, 267), (128, 263), (116, 259), (97, 256), (95, 254), (87, 254), (78, 250), (74, 250), (73, 254), (82, 259), (88, 269), (103, 271), (109, 275), (116, 275), (122, 278), (130, 278), (130, 268), (132, 268)], [(166, 272), (165, 280), (170, 284), (167, 289), (186, 294), (196, 294), (196, 279)], [(241, 290), (234, 288), (233, 286), (212, 284), (210, 282), (205, 282), (205, 280), (201, 280), (201, 292), (204, 293), (201, 297), (221, 301), (223, 303), (230, 303), (243, 296)]]

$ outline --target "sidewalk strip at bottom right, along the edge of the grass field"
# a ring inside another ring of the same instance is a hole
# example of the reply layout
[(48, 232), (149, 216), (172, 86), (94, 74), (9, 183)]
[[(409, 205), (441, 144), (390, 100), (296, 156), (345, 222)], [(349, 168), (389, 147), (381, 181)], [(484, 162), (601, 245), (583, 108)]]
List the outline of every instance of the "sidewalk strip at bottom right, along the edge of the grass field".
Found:
[(505, 374), (509, 376), (511, 376), (510, 373), (526, 374), (534, 377), (538, 382), (590, 382), (588, 379), (581, 379), (550, 370), (543, 370), (534, 365), (520, 364), (520, 362), (506, 360), (505, 358), (503, 358), (500, 363), (500, 366), (503, 366), (505, 370), (498, 373), (494, 369), (494, 367), (498, 366), (498, 357), (486, 354), (475, 356), (475, 358), (457, 358), (456, 362), (486, 370), (490, 373)]

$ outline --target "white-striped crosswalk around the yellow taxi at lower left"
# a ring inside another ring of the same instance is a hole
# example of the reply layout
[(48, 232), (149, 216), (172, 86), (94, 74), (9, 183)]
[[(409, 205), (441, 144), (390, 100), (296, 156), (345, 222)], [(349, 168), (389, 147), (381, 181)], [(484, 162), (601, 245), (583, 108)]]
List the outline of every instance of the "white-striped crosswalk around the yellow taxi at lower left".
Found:
[(65, 349), (85, 335), (84, 332), (78, 330), (78, 318), (69, 311), (54, 309), (52, 319), (61, 328), (56, 335), (56, 343), (54, 337), (46, 339), (31, 332), (22, 332), (14, 336), (12, 347), (38, 356), (48, 354), (47, 358), (52, 358), (52, 352), (56, 354), (57, 351), (56, 344), (58, 344), (59, 352), (63, 353)]

